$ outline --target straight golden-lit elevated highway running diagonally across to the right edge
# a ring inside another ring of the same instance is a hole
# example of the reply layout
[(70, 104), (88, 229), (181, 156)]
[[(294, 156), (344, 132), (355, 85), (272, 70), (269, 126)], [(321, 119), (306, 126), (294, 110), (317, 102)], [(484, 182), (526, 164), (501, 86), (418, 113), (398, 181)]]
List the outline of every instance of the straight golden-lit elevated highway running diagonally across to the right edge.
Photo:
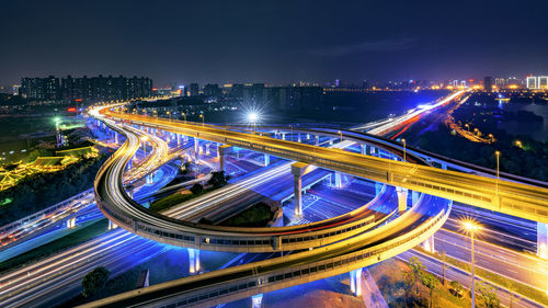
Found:
[(548, 190), (546, 187), (368, 157), (341, 149), (320, 148), (232, 132), (218, 126), (122, 114), (107, 109), (103, 109), (102, 113), (117, 121), (251, 149), (512, 216), (548, 223)]

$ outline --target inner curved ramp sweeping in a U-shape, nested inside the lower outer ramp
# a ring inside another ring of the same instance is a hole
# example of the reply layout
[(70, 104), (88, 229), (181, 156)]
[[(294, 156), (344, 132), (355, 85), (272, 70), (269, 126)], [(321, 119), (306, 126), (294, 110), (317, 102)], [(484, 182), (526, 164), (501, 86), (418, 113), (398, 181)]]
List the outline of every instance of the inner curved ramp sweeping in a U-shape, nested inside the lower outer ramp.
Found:
[[(181, 221), (144, 208), (125, 193), (122, 173), (139, 147), (139, 138), (132, 130), (119, 132), (126, 135), (126, 142), (105, 162), (95, 179), (98, 205), (116, 225), (160, 242), (216, 251), (269, 252), (308, 249), (364, 232), (381, 224), (397, 210), (385, 214), (370, 207), (372, 204), (378, 203), (379, 198), (386, 197), (383, 193), (354, 212), (308, 225), (232, 228)], [(385, 190), (391, 192), (393, 187)]]

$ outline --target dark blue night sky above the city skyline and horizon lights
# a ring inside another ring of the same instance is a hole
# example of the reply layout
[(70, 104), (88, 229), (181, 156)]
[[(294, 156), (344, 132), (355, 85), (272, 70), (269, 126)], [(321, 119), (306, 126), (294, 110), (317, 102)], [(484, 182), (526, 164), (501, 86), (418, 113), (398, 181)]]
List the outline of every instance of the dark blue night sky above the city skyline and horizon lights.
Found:
[(0, 84), (548, 75), (548, 1), (1, 1)]

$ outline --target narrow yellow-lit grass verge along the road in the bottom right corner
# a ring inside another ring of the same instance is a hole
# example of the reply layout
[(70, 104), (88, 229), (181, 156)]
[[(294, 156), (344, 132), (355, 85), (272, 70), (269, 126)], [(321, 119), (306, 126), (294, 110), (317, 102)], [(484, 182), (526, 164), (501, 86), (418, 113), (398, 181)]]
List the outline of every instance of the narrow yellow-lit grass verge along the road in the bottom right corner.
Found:
[[(431, 255), (435, 259), (441, 260), (441, 255), (438, 253), (430, 253), (430, 252), (425, 251), (424, 249), (422, 249), (421, 247), (415, 247), (414, 249), (426, 254), (426, 255)], [(454, 259), (450, 256), (445, 256), (445, 261), (447, 264), (450, 264), (457, 269), (460, 269), (460, 270), (464, 270), (467, 272), (471, 271), (470, 264), (467, 262), (463, 262), (460, 260), (457, 260), (457, 259)], [(534, 287), (530, 287), (528, 285), (525, 285), (523, 283), (510, 280), (505, 276), (493, 273), (491, 271), (487, 271), (484, 269), (478, 267), (478, 266), (476, 266), (473, 270), (475, 270), (476, 276), (478, 276), (484, 281), (491, 282), (495, 285), (499, 285), (505, 289), (512, 289), (512, 292), (514, 292), (516, 294), (520, 294), (520, 295), (527, 297), (527, 298), (532, 298), (532, 299), (534, 299), (538, 303), (541, 303), (543, 305), (546, 305), (548, 307), (548, 296), (546, 295), (546, 293), (538, 290)]]

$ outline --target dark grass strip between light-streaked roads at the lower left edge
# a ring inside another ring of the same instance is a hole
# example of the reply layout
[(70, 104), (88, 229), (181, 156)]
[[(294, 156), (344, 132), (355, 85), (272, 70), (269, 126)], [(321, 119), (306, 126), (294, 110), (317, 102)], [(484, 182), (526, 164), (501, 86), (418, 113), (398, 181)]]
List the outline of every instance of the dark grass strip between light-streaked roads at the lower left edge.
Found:
[(38, 262), (39, 260), (45, 259), (54, 253), (67, 250), (68, 248), (89, 241), (104, 233), (104, 231), (107, 229), (107, 226), (109, 226), (109, 220), (101, 219), (89, 226), (82, 227), (80, 228), (80, 230), (77, 230), (60, 239), (37, 247), (18, 256), (11, 258), (0, 263), (0, 273), (11, 271), (15, 267), (20, 267), (28, 263)]

